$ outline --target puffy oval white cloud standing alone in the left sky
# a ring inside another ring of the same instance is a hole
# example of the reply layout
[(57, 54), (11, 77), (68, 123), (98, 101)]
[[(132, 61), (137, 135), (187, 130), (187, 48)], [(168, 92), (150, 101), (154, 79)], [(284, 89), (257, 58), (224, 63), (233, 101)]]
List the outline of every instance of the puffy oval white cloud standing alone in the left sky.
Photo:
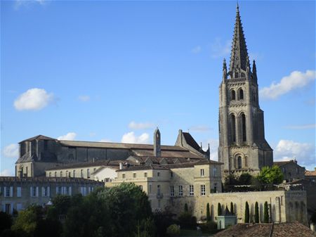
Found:
[(20, 94), (14, 101), (16, 110), (41, 110), (53, 101), (53, 94), (44, 89), (32, 88)]

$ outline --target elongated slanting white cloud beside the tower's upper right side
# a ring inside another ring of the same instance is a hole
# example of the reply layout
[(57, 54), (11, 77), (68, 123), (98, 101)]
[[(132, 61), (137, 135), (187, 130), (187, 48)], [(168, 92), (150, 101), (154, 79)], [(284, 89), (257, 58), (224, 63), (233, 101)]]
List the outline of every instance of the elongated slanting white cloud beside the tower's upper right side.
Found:
[(276, 99), (289, 91), (305, 87), (314, 81), (315, 77), (315, 70), (306, 70), (306, 72), (294, 71), (289, 76), (283, 77), (279, 83), (272, 82), (270, 87), (263, 87), (259, 93), (262, 98)]

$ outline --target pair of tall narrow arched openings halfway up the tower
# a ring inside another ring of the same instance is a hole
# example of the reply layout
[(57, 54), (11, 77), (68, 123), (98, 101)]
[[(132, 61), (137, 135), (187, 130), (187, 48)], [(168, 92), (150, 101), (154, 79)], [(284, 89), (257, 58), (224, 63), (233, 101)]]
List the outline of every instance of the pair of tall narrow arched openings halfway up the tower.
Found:
[(237, 142), (237, 134), (241, 141), (247, 141), (246, 136), (246, 115), (241, 113), (239, 117), (235, 114), (230, 114), (230, 143)]

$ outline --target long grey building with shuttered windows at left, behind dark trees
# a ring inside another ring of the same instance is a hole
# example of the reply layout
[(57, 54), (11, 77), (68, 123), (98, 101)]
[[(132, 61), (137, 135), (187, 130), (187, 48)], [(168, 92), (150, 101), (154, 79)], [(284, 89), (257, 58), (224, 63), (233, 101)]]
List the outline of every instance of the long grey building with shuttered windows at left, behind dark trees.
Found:
[(103, 182), (81, 178), (0, 177), (0, 207), (13, 214), (32, 204), (46, 205), (58, 195), (86, 196)]

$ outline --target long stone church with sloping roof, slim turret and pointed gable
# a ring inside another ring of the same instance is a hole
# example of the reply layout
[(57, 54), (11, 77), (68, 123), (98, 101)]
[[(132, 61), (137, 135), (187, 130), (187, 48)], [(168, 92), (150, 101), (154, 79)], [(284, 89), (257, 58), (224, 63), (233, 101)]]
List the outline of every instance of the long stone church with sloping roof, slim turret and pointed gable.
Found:
[(195, 139), (179, 130), (175, 146), (162, 146), (160, 132), (154, 132), (154, 145), (91, 141), (62, 141), (48, 136), (34, 136), (19, 143), (20, 155), (15, 163), (16, 177), (45, 176), (47, 169), (62, 165), (98, 160), (136, 160), (150, 162), (187, 162), (209, 158)]

